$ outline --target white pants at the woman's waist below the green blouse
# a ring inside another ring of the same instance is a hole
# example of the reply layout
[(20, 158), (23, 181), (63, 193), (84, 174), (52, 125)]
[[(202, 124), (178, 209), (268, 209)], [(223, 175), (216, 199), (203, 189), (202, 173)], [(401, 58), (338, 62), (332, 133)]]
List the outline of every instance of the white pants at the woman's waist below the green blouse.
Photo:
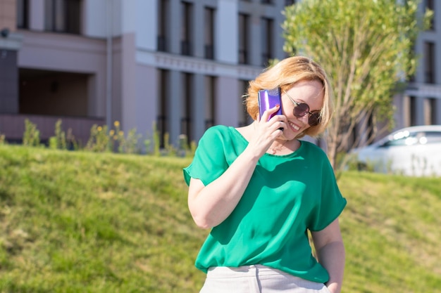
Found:
[(268, 266), (210, 268), (200, 293), (329, 293), (322, 283), (295, 277)]

